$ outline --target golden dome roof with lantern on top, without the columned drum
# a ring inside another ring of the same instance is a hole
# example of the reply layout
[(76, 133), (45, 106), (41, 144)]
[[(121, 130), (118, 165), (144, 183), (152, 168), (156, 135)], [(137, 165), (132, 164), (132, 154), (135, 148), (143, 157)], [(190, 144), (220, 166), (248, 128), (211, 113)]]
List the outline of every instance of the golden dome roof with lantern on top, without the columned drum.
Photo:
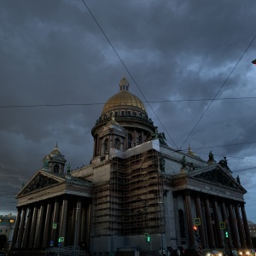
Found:
[(131, 106), (140, 108), (143, 112), (146, 112), (143, 102), (137, 97), (129, 92), (129, 83), (125, 77), (119, 82), (120, 91), (114, 96), (108, 99), (102, 109), (102, 114), (111, 111), (111, 108), (115, 107), (125, 107)]

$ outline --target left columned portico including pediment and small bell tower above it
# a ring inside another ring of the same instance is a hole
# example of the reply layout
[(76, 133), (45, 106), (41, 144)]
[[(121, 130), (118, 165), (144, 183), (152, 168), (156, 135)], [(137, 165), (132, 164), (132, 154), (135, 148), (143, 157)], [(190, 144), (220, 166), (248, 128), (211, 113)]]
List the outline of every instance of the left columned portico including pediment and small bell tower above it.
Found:
[[(64, 173), (57, 146), (18, 199), (12, 248), (90, 247), (91, 183)], [(61, 244), (60, 244), (61, 243)]]

